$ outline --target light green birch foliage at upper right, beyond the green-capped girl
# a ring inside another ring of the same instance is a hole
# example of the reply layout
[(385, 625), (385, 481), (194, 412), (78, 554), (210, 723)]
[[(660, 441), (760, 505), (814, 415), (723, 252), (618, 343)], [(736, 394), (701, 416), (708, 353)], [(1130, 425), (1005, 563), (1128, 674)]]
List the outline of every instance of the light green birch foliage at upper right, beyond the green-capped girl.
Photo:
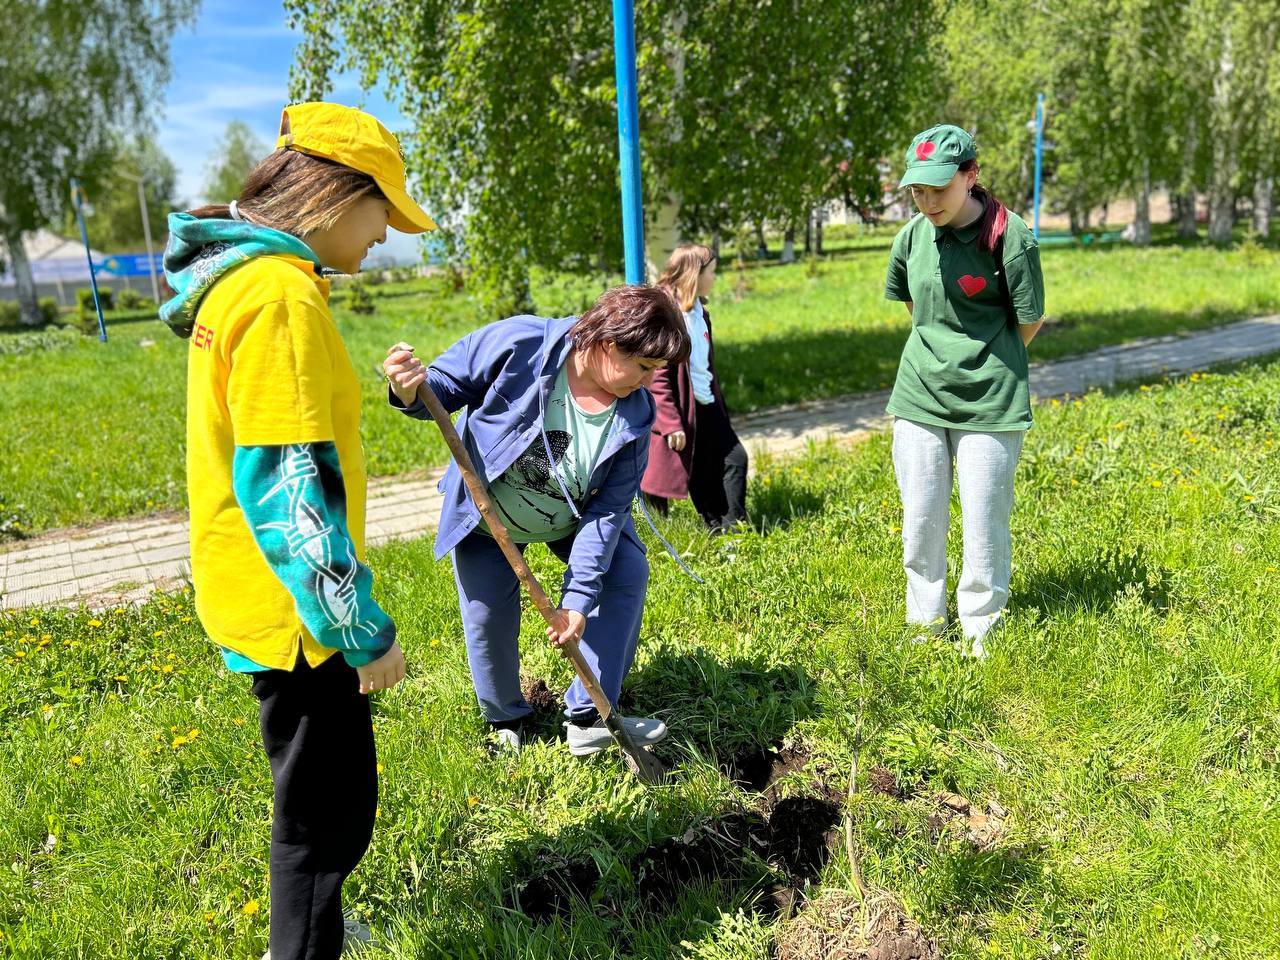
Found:
[(1236, 197), (1275, 174), (1277, 31), (1277, 0), (957, 0), (946, 116), (977, 132), (984, 177), (1025, 207), (1027, 120), (1043, 91), (1051, 207), (1083, 224), (1091, 207), (1137, 197), (1146, 242), (1153, 187), (1192, 202), (1208, 192), (1211, 237), (1225, 242)]

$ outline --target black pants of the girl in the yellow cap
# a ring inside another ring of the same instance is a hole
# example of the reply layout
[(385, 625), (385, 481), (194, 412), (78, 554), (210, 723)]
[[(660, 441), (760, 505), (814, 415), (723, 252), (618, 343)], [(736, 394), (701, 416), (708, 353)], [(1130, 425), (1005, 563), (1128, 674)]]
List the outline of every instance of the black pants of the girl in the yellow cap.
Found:
[(369, 849), (378, 760), (369, 698), (342, 654), (253, 675), (271, 762), (271, 960), (338, 960), (342, 882)]

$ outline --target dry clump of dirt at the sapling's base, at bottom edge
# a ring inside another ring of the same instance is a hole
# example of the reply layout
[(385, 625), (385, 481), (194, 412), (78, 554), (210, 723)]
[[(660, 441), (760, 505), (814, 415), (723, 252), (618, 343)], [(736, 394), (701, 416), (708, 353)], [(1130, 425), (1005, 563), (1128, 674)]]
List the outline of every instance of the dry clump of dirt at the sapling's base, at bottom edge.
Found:
[[(865, 923), (864, 923), (865, 922)], [(852, 893), (828, 891), (778, 929), (778, 960), (941, 960), (936, 941), (890, 897), (863, 910)]]

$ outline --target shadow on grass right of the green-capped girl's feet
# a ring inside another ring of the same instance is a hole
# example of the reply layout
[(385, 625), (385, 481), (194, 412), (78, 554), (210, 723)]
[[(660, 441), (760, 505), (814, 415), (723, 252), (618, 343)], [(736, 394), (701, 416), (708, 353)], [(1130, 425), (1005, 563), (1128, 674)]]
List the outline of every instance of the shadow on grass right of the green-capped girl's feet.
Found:
[(1015, 591), (1014, 602), (1046, 612), (1075, 608), (1103, 612), (1121, 595), (1137, 593), (1144, 604), (1164, 609), (1171, 591), (1171, 571), (1148, 557), (1142, 544), (1114, 545), (1066, 566), (1034, 572)]

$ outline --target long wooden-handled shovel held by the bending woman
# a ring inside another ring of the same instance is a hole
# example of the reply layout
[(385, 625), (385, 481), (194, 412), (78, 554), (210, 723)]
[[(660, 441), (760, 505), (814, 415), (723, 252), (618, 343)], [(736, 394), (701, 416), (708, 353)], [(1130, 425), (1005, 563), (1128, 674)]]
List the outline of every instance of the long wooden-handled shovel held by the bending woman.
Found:
[[(435, 425), (440, 428), (440, 433), (444, 435), (444, 442), (449, 445), (449, 452), (453, 453), (453, 460), (458, 465), (458, 470), (462, 474), (462, 480), (467, 485), (467, 490), (471, 492), (471, 499), (480, 509), (480, 516), (484, 517), (485, 524), (489, 526), (489, 532), (493, 534), (493, 539), (498, 541), (498, 547), (502, 548), (503, 556), (506, 556), (507, 562), (511, 568), (516, 571), (516, 576), (520, 582), (525, 585), (525, 590), (534, 600), (534, 605), (538, 612), (543, 614), (543, 620), (547, 621), (548, 626), (553, 630), (562, 630), (559, 616), (554, 607), (552, 607), (550, 600), (547, 599), (547, 594), (543, 591), (541, 584), (534, 576), (534, 572), (529, 568), (525, 562), (524, 554), (512, 543), (511, 535), (507, 532), (507, 527), (498, 518), (497, 511), (493, 508), (493, 503), (489, 499), (489, 492), (484, 486), (484, 481), (476, 472), (475, 463), (471, 462), (471, 456), (467, 453), (466, 447), (462, 445), (462, 440), (458, 436), (458, 431), (453, 429), (453, 422), (449, 420), (449, 415), (440, 406), (439, 398), (431, 392), (426, 384), (417, 388), (417, 396), (421, 398), (422, 403), (426, 404), (428, 411), (430, 411), (431, 417), (435, 420)], [(588, 695), (591, 698), (591, 703), (595, 704), (595, 709), (600, 713), (600, 719), (604, 721), (604, 726), (608, 728), (609, 733), (617, 741), (618, 748), (622, 750), (622, 759), (627, 768), (635, 773), (645, 783), (662, 783), (667, 778), (667, 771), (663, 768), (662, 762), (657, 756), (650, 754), (648, 750), (640, 748), (627, 728), (622, 726), (622, 719), (613, 713), (613, 705), (604, 696), (604, 691), (600, 690), (600, 684), (596, 681), (595, 676), (591, 673), (591, 668), (588, 666), (586, 660), (582, 659), (582, 652), (577, 648), (577, 640), (570, 640), (561, 648), (561, 653), (567, 657), (573, 663), (573, 669), (577, 672), (577, 678), (582, 681), (582, 686), (586, 689)]]

